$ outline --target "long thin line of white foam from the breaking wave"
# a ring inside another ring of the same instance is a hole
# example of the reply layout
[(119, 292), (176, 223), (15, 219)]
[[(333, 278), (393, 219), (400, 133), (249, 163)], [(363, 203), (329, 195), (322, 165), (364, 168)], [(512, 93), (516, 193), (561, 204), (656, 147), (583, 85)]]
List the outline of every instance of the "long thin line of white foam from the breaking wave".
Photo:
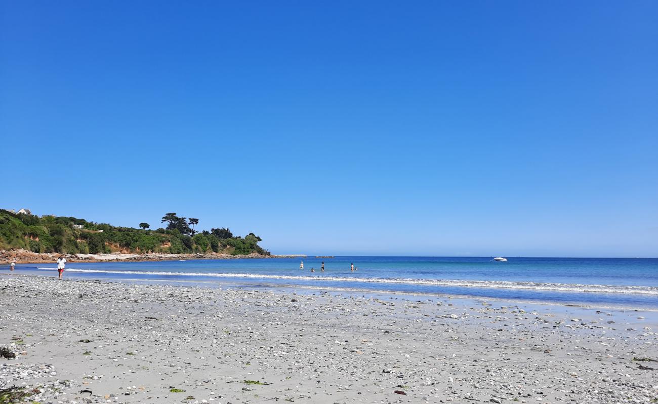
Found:
[[(54, 267), (39, 267), (39, 269), (56, 269)], [(467, 288), (504, 288), (526, 290), (553, 290), (562, 292), (590, 293), (624, 293), (658, 296), (655, 286), (615, 286), (601, 284), (571, 284), (542, 282), (511, 282), (511, 281), (461, 281), (455, 279), (404, 279), (404, 278), (363, 278), (363, 277), (326, 277), (301, 275), (265, 275), (255, 273), (201, 273), (201, 272), (166, 272), (166, 271), (113, 271), (108, 269), (75, 269), (66, 271), (81, 273), (114, 273), (117, 275), (158, 275), (167, 277), (216, 277), (216, 278), (246, 278), (246, 279), (288, 279), (294, 281), (329, 281), (329, 282), (372, 282), (388, 284), (415, 284), (426, 286), (458, 286)]]

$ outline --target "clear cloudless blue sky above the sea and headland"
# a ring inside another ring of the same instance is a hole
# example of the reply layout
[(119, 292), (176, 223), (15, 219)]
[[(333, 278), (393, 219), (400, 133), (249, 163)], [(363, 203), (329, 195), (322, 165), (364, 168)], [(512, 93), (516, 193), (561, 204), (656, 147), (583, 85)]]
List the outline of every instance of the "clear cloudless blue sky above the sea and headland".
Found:
[(0, 206), (275, 253), (658, 256), (655, 1), (7, 1)]

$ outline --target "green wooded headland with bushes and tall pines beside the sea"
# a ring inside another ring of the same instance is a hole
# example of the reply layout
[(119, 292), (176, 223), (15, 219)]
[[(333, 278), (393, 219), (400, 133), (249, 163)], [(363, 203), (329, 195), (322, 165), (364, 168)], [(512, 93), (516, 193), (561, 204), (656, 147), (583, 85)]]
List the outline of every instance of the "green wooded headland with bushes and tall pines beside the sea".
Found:
[(149, 231), (149, 223), (139, 223), (140, 230), (93, 223), (76, 217), (16, 215), (0, 210), (0, 248), (62, 254), (116, 251), (270, 254), (258, 245), (261, 238), (253, 233), (245, 237), (234, 236), (228, 228), (199, 233), (194, 230), (199, 219), (178, 217), (176, 213), (166, 213), (163, 223), (167, 223), (165, 229)]

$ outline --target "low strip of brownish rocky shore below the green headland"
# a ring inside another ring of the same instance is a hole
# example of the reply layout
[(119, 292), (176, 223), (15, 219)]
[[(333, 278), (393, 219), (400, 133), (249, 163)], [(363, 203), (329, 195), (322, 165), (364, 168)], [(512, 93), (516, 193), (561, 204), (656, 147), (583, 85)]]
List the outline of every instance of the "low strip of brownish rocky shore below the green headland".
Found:
[(176, 259), (235, 259), (235, 258), (297, 258), (299, 255), (264, 256), (261, 254), (231, 255), (231, 254), (57, 254), (37, 253), (22, 248), (13, 250), (0, 250), (0, 261), (16, 259), (18, 263), (45, 263), (53, 262), (64, 256), (69, 262), (101, 262), (101, 261), (173, 261)]

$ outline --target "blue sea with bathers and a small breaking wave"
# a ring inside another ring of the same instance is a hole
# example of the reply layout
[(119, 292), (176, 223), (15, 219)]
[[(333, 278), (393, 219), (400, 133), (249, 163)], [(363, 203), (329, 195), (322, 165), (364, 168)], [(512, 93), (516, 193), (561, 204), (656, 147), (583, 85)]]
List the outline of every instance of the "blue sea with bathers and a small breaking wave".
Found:
[[(496, 262), (490, 257), (305, 258), (304, 269), (299, 269), (299, 258), (70, 263), (65, 277), (474, 296), (658, 309), (658, 258), (507, 259)], [(324, 272), (320, 271), (322, 261)], [(356, 271), (350, 271), (351, 263)], [(20, 264), (16, 273), (56, 276), (57, 271), (55, 263)]]

